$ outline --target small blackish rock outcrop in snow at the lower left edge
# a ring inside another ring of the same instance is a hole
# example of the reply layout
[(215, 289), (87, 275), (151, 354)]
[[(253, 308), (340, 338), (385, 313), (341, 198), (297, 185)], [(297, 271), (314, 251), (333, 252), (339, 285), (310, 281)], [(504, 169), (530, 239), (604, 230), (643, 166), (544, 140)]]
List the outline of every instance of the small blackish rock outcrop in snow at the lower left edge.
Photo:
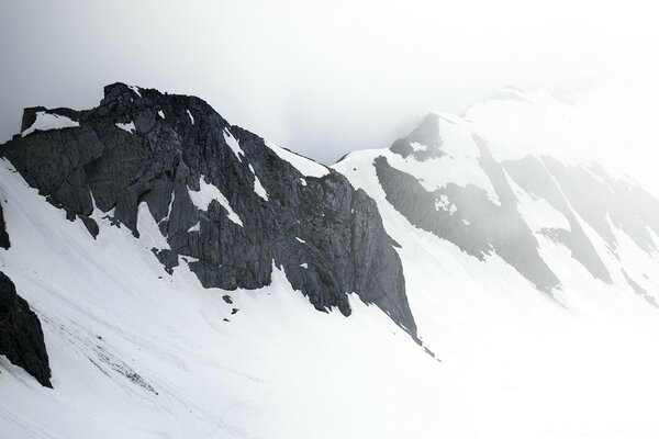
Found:
[(42, 385), (51, 385), (48, 353), (41, 323), (16, 294), (13, 282), (0, 271), (0, 353), (23, 368)]

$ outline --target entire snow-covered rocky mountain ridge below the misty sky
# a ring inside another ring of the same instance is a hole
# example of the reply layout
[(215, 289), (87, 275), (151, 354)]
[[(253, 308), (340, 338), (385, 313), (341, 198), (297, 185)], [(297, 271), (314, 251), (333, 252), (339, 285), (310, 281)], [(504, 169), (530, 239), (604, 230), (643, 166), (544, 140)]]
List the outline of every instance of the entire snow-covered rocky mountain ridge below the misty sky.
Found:
[(22, 125), (1, 437), (659, 428), (659, 202), (562, 153), (602, 138), (573, 102), (505, 90), (331, 168), (122, 83)]

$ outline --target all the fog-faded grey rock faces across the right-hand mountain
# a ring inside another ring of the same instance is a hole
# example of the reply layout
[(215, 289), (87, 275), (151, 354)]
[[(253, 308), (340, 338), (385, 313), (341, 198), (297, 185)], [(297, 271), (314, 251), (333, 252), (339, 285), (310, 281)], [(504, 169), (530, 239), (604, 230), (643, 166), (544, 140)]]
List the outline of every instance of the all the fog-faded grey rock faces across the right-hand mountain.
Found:
[[(433, 166), (427, 162), (429, 159), (453, 160), (443, 150), (443, 123), (446, 126), (450, 122), (443, 122), (436, 115), (426, 116), (410, 136), (394, 142), (390, 151), (403, 157), (411, 169), (422, 162)], [(485, 255), (499, 255), (544, 292), (560, 288), (561, 283), (539, 255), (537, 236), (544, 235), (567, 247), (593, 278), (608, 284), (613, 282), (612, 274), (582, 224), (590, 226), (618, 259), (614, 228), (629, 236), (644, 251), (656, 250), (651, 234), (659, 235), (659, 202), (643, 189), (612, 179), (596, 165), (567, 166), (547, 156), (499, 162), (484, 139), (469, 135), (478, 148), (474, 160), (495, 191), (498, 203), (489, 198), (487, 190), (474, 184), (448, 182), (429, 191), (416, 176), (395, 168), (387, 157), (375, 159), (387, 201), (411, 224), (481, 260)], [(567, 225), (532, 230), (521, 214), (513, 185), (534, 200), (546, 201), (565, 217)], [(628, 279), (626, 273), (625, 278)], [(634, 283), (629, 284), (634, 288)]]

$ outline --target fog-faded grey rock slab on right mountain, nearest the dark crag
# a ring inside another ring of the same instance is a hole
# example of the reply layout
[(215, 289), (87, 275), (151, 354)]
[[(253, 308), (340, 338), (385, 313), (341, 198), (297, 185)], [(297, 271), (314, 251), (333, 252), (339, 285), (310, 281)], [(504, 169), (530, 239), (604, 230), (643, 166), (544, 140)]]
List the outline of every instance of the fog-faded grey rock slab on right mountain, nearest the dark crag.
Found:
[[(540, 258), (535, 236), (517, 213), (512, 190), (496, 177), (501, 170), (493, 162), (487, 162), (485, 167), (490, 169), (501, 205), (490, 201), (488, 193), (476, 185), (449, 183), (428, 192), (416, 178), (391, 167), (383, 156), (373, 166), (387, 201), (411, 224), (454, 243), (480, 260), (495, 251), (543, 292), (550, 293), (560, 286), (556, 274)], [(437, 209), (438, 200), (450, 201), (455, 210)]]

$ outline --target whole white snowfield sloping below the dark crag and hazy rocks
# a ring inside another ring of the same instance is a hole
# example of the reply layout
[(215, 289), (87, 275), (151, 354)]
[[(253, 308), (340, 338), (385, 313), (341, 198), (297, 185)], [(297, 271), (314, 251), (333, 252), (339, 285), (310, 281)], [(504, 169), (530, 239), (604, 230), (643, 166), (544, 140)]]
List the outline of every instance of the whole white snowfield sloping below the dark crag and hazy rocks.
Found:
[[(12, 239), (0, 267), (42, 320), (55, 386), (0, 357), (3, 436), (541, 439), (659, 428), (657, 309), (621, 277), (594, 281), (541, 240), (571, 273), (559, 306), (498, 257), (480, 262), (409, 225), (364, 171), (372, 167), (359, 169), (351, 182), (401, 244), (420, 334), (442, 363), (355, 295), (347, 318), (316, 312), (277, 267), (269, 286), (232, 291), (228, 305), (230, 292), (203, 289), (187, 263), (165, 273), (144, 204), (138, 239), (94, 210), (94, 240), (0, 161)], [(633, 244), (616, 238), (630, 257)], [(650, 291), (659, 264), (634, 258), (629, 275)]]

